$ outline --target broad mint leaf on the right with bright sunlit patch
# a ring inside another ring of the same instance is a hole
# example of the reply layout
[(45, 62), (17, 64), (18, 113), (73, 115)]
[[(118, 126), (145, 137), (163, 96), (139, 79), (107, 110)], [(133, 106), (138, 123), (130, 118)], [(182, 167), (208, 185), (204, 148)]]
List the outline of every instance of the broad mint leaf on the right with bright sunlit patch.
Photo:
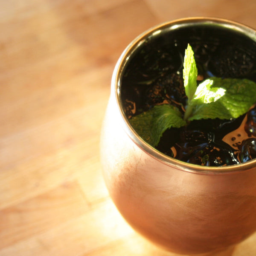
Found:
[(256, 83), (248, 79), (212, 77), (198, 85), (189, 121), (195, 119), (230, 119), (246, 113), (256, 102)]

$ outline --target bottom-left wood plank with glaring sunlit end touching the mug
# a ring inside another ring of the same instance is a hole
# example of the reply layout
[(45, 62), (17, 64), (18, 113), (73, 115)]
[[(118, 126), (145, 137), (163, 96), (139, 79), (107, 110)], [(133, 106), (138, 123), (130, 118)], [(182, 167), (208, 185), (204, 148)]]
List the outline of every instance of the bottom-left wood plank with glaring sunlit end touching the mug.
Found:
[[(117, 238), (134, 233), (109, 199), (84, 215), (65, 221), (52, 229), (15, 243), (0, 251), (6, 255), (70, 256), (102, 247)], [(29, 246), (29, 248), (26, 247)]]

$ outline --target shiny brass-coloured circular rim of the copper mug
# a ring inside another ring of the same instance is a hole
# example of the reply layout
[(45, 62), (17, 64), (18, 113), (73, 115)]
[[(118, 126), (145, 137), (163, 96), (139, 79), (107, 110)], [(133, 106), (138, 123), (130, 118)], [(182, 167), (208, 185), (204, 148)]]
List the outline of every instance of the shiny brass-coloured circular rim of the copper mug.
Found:
[(115, 92), (115, 103), (119, 109), (119, 119), (121, 119), (122, 128), (128, 134), (130, 139), (143, 151), (147, 154), (150, 154), (155, 159), (160, 162), (165, 163), (168, 166), (173, 166), (179, 169), (182, 169), (185, 172), (195, 172), (198, 174), (207, 174), (207, 175), (216, 175), (216, 174), (229, 174), (234, 172), (244, 172), (250, 170), (256, 166), (256, 159), (247, 161), (246, 163), (239, 163), (232, 166), (199, 166), (191, 163), (185, 163), (183, 161), (177, 160), (175, 158), (169, 157), (166, 154), (157, 151), (151, 145), (142, 140), (138, 134), (134, 131), (130, 125), (128, 119), (125, 116), (125, 113), (122, 109), (121, 101), (121, 78), (123, 74), (124, 67), (128, 63), (128, 60), (134, 52), (143, 45), (145, 40), (149, 37), (160, 33), (166, 33), (175, 29), (179, 29), (183, 26), (195, 26), (195, 25), (208, 25), (208, 26), (219, 26), (228, 30), (235, 30), (243, 35), (246, 35), (248, 38), (251, 38), (253, 41), (256, 41), (256, 31), (249, 26), (237, 23), (231, 20), (221, 19), (221, 18), (211, 18), (211, 17), (188, 17), (178, 20), (173, 20), (166, 23), (161, 23), (157, 26), (154, 26), (137, 38), (135, 38), (131, 43), (125, 48), (119, 57), (116, 66), (113, 71), (113, 76), (111, 80), (111, 90)]

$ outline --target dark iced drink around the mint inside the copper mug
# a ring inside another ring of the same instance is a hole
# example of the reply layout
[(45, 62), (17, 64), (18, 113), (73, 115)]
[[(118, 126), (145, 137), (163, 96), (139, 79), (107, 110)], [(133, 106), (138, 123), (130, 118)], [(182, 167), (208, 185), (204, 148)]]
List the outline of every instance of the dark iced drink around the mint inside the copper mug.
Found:
[[(188, 39), (189, 38), (189, 39)], [(183, 58), (195, 52), (198, 83), (212, 76), (256, 81), (256, 44), (237, 33), (195, 26), (147, 39), (126, 66), (122, 102), (128, 119), (160, 104), (184, 112)], [(256, 108), (237, 119), (202, 119), (167, 130), (156, 149), (187, 163), (226, 166), (256, 157)]]

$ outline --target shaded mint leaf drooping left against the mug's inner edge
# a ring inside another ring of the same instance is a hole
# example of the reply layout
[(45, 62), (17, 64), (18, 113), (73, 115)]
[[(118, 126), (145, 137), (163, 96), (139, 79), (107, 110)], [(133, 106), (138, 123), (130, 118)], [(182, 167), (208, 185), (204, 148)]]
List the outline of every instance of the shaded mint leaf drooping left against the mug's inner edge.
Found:
[(129, 120), (137, 134), (153, 147), (168, 128), (186, 125), (180, 111), (172, 105), (158, 105)]

